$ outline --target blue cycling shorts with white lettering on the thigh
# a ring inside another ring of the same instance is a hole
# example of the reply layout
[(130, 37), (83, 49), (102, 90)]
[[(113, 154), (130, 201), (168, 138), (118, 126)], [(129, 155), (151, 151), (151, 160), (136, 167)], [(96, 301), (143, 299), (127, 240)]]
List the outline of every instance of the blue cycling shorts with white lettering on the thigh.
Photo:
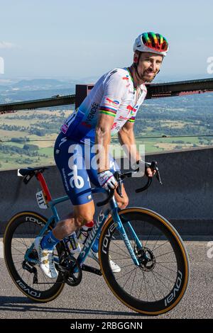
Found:
[[(60, 170), (65, 192), (72, 205), (82, 205), (92, 201), (90, 181), (94, 186), (100, 186), (96, 152), (93, 152), (92, 147), (67, 138), (62, 132), (55, 141), (55, 163)], [(111, 155), (109, 162), (111, 172), (119, 171), (119, 166)]]

